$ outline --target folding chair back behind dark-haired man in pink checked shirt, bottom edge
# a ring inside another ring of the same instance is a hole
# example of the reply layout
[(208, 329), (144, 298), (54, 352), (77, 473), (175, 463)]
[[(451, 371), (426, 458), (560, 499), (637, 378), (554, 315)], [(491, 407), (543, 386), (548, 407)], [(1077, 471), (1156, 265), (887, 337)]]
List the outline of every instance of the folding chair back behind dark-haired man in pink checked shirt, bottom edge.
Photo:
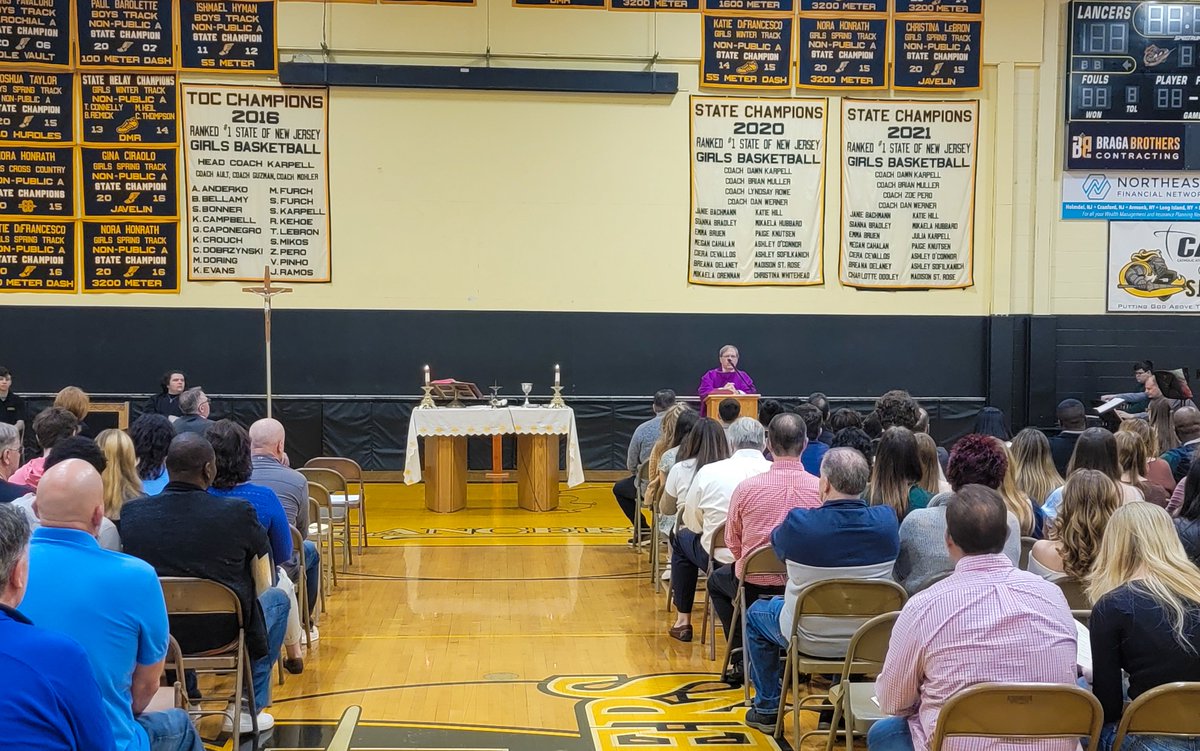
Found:
[(1103, 725), (1099, 699), (1079, 686), (984, 683), (946, 702), (929, 751), (941, 751), (947, 738), (964, 735), (1022, 740), (1086, 737), (1085, 747), (1096, 749)]

